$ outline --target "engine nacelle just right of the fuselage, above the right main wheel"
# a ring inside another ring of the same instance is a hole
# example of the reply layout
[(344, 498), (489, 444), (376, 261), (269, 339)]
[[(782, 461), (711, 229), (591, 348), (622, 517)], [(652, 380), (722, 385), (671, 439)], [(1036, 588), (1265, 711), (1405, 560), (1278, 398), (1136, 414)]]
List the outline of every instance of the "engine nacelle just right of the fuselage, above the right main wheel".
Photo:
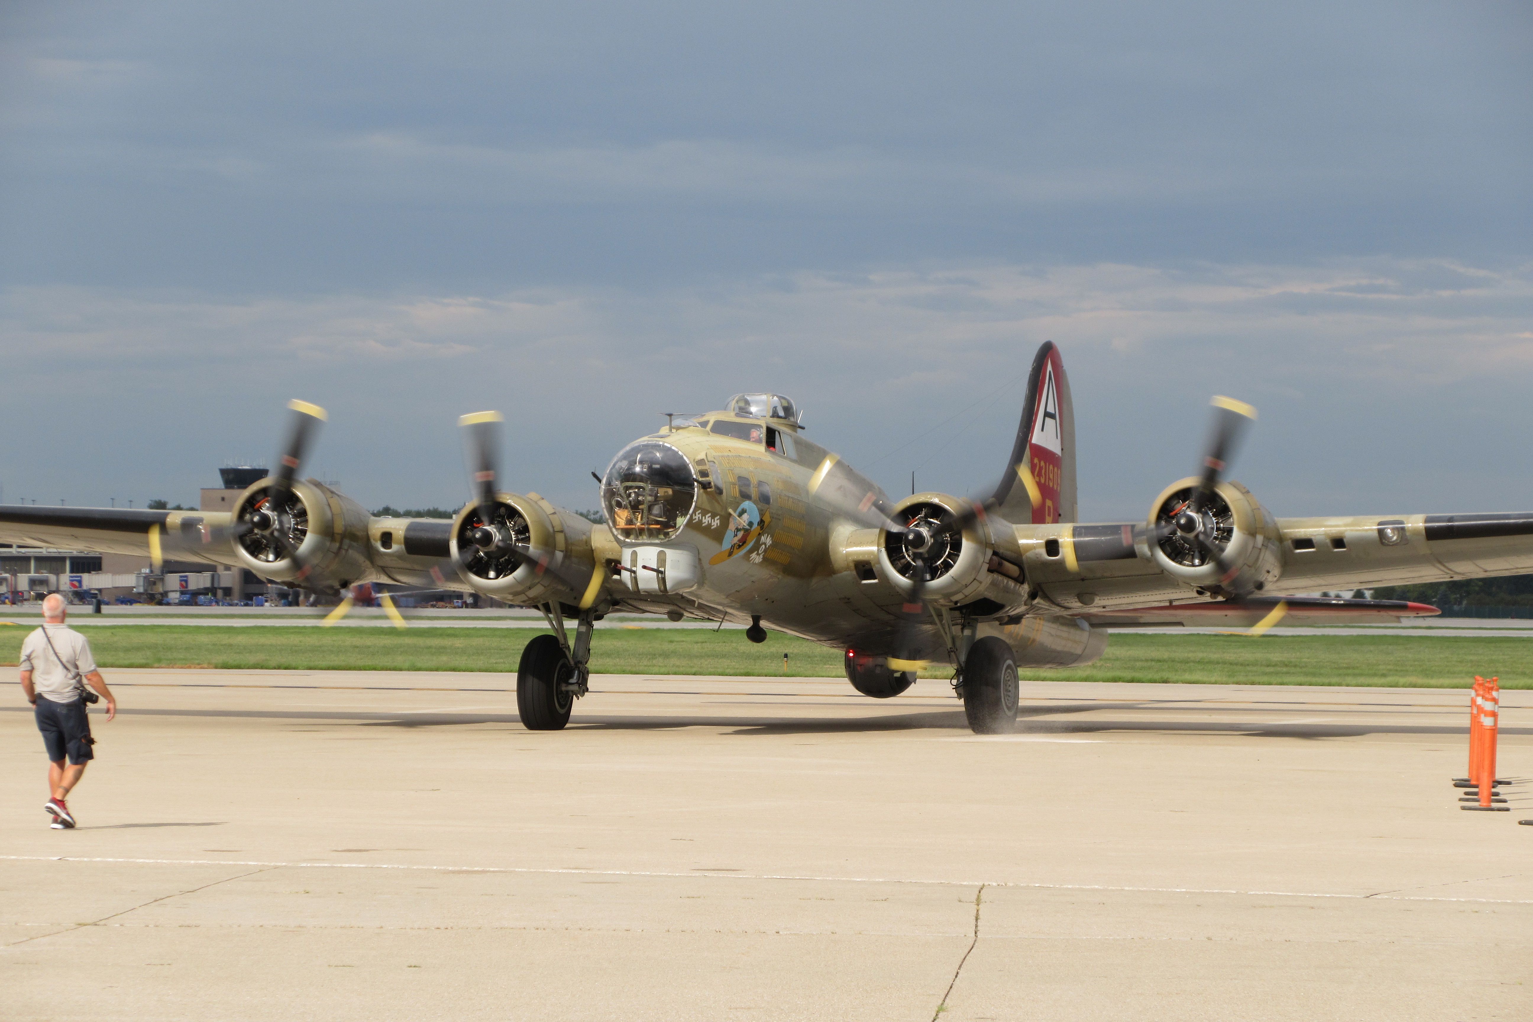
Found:
[[(946, 493), (917, 493), (908, 496), (895, 506), (889, 515), (894, 521), (920, 529), (923, 522), (937, 526), (944, 518), (952, 518), (966, 510), (967, 506)], [(1007, 527), (1009, 530), (1009, 527)], [(938, 604), (960, 607), (984, 599), (990, 601), (992, 610), (1000, 613), (1004, 608), (1021, 607), (1027, 602), (1027, 590), (1018, 578), (990, 570), (992, 555), (996, 545), (1003, 545), (1012, 561), (1021, 561), (1015, 535), (996, 536), (989, 518), (978, 518), (960, 535), (943, 533), (927, 529), (932, 535), (932, 549), (927, 552), (931, 579), (926, 584), (924, 599)], [(878, 575), (909, 595), (917, 575), (917, 559), (909, 549), (912, 533), (878, 530)], [(1007, 545), (1007, 539), (1010, 539)]]

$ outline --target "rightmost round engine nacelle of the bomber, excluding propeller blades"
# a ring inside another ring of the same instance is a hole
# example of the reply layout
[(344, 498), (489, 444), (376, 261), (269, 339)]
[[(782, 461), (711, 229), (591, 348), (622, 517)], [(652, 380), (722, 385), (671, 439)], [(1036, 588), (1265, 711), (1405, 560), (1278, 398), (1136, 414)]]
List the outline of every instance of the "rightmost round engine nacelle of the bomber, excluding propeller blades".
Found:
[(1283, 573), (1277, 522), (1239, 483), (1223, 481), (1199, 513), (1202, 542), (1217, 549), (1228, 568), (1222, 573), (1214, 558), (1190, 535), (1179, 532), (1176, 518), (1188, 509), (1197, 478), (1188, 477), (1168, 486), (1150, 507), (1150, 556), (1156, 565), (1187, 585), (1208, 591), (1260, 590)]

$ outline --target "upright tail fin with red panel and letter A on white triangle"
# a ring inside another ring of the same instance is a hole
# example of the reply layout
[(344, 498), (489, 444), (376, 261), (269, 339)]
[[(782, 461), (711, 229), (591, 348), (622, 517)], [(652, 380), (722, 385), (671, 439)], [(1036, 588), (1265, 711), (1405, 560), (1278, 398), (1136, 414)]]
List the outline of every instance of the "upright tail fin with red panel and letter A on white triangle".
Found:
[(1075, 521), (1075, 409), (1052, 340), (1033, 355), (1023, 421), (995, 500), (1000, 515), (1015, 524)]

